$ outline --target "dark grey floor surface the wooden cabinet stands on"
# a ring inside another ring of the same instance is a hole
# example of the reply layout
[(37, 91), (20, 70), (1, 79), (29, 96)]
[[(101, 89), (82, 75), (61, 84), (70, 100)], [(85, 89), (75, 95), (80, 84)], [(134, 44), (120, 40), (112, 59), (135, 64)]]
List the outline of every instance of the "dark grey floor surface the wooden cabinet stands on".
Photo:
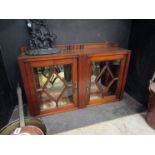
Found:
[[(144, 111), (145, 107), (125, 93), (123, 99), (118, 102), (49, 115), (41, 119), (47, 127), (47, 134), (59, 134)], [(18, 110), (16, 107), (10, 122), (17, 118)], [(91, 133), (93, 134), (93, 132)]]

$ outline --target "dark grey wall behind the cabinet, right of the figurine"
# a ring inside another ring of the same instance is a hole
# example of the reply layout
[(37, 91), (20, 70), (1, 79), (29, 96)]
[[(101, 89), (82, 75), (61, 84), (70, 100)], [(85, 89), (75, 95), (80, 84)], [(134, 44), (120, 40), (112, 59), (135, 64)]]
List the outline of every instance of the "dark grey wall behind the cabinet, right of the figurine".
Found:
[(131, 20), (48, 20), (56, 43), (115, 41), (128, 47)]

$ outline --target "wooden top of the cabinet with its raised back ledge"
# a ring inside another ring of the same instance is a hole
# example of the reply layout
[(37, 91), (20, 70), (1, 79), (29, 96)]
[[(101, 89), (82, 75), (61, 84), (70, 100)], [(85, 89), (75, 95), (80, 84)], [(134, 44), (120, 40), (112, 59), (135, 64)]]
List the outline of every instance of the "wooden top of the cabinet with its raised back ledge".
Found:
[(77, 57), (80, 55), (117, 55), (117, 54), (128, 54), (130, 50), (118, 47), (117, 43), (114, 42), (101, 42), (101, 43), (84, 43), (84, 44), (68, 44), (68, 45), (56, 45), (56, 48), (60, 49), (57, 54), (50, 55), (37, 55), (30, 56), (26, 55), (26, 48), (23, 48), (21, 55), (18, 59), (39, 59), (39, 58), (68, 58)]

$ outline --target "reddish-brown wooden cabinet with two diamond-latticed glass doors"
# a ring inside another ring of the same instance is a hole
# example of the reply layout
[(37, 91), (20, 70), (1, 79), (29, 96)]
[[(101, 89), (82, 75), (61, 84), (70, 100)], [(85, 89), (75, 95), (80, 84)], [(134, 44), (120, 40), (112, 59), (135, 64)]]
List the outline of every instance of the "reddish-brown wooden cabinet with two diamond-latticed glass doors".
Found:
[(121, 99), (130, 51), (116, 43), (57, 45), (60, 53), (18, 58), (31, 115), (48, 115)]

